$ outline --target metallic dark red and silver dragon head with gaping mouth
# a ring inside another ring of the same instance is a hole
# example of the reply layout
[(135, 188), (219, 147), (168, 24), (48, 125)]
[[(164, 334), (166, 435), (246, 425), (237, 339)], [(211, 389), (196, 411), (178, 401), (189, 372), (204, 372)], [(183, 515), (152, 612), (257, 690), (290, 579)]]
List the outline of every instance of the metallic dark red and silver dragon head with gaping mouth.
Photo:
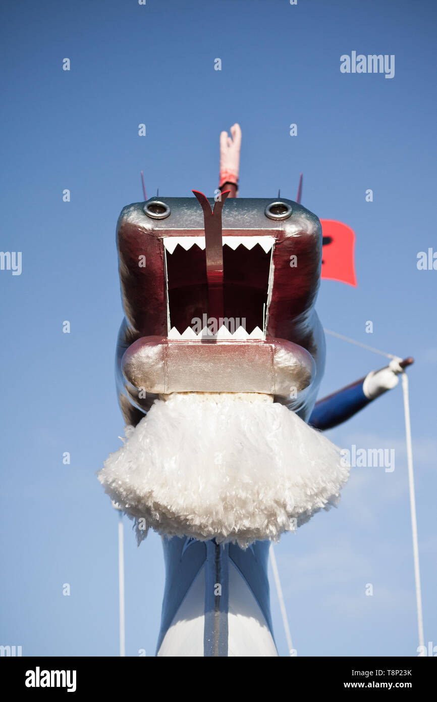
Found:
[(174, 392), (261, 393), (304, 416), (323, 369), (320, 222), (271, 199), (221, 216), (224, 198), (193, 192), (119, 218), (122, 392), (142, 411)]

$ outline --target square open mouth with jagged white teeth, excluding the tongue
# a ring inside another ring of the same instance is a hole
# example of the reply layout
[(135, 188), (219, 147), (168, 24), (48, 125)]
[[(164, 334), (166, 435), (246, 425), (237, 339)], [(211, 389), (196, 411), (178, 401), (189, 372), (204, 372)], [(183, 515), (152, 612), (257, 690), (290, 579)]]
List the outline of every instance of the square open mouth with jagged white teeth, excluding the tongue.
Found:
[(164, 237), (168, 338), (265, 338), (274, 237), (222, 237), (223, 315), (208, 314), (205, 237)]

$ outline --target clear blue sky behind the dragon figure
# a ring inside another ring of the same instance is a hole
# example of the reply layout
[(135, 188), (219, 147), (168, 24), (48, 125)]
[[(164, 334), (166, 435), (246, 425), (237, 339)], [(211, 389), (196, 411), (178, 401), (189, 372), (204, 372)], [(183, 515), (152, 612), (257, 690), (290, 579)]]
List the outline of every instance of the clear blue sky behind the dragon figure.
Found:
[[(416, 359), (408, 375), (424, 631), (437, 645), (437, 271), (416, 265), (419, 251), (437, 250), (436, 14), (431, 2), (405, 0), (4, 4), (0, 248), (22, 251), (22, 273), (0, 270), (1, 644), (22, 645), (23, 655), (118, 652), (117, 515), (95, 477), (123, 431), (116, 220), (142, 200), (140, 170), (148, 195), (213, 197), (219, 134), (238, 121), (241, 197), (281, 187), (293, 199), (303, 171), (302, 203), (356, 232), (358, 288), (322, 282), (324, 326)], [(394, 78), (342, 74), (340, 56), (352, 51), (394, 54)], [(327, 342), (321, 397), (384, 365)], [(276, 547), (293, 644), (304, 656), (415, 656), (401, 389), (328, 437), (394, 448), (396, 468), (354, 468), (339, 508)], [(154, 655), (160, 539), (137, 548), (126, 519), (125, 549), (126, 654)], [(272, 610), (286, 655), (274, 591)]]

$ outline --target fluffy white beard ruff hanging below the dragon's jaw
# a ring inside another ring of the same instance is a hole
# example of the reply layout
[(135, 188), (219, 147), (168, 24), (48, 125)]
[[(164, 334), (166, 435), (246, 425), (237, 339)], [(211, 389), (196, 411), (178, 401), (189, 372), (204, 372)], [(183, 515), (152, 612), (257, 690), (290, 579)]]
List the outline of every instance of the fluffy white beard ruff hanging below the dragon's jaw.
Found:
[(246, 548), (337, 504), (342, 463), (337, 446), (281, 404), (175, 394), (126, 428), (98, 478), (134, 519), (138, 542), (152, 527)]

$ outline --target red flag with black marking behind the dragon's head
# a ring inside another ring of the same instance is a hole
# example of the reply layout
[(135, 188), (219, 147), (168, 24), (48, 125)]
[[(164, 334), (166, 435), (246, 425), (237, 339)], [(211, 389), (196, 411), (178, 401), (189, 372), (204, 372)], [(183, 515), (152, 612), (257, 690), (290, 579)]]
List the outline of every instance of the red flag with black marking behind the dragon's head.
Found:
[(323, 231), (321, 277), (356, 287), (354, 230), (335, 220), (320, 221)]

